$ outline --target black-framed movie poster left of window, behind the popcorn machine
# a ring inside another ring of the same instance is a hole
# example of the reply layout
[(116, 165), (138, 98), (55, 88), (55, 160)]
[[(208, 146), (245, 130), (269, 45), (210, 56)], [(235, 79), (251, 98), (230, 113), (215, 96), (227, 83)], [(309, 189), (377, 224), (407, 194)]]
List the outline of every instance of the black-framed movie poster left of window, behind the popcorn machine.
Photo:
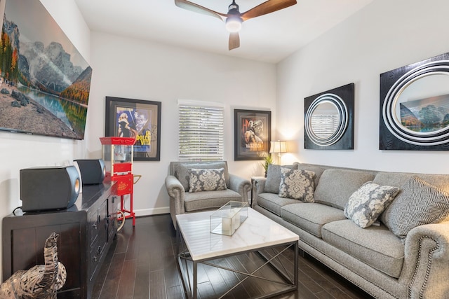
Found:
[(106, 97), (105, 136), (135, 138), (135, 161), (161, 160), (161, 102)]

